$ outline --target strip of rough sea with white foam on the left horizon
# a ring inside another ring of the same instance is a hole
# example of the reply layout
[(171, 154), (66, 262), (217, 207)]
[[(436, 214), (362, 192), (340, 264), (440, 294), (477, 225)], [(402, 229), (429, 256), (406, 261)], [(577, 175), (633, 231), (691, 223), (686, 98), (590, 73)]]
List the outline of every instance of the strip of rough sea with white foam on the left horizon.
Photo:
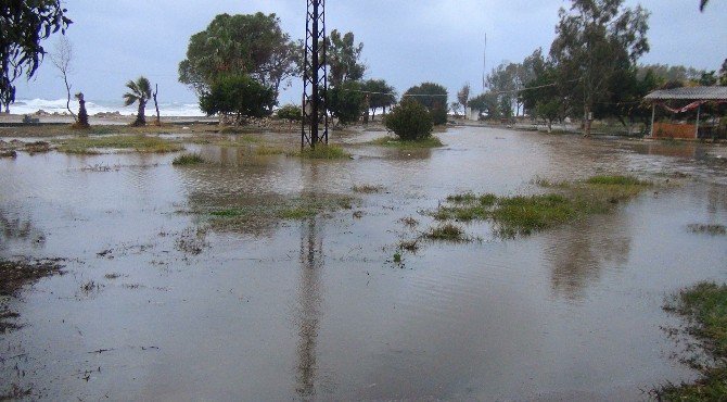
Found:
[[(74, 113), (78, 112), (78, 101), (75, 99), (71, 101), (71, 110)], [(97, 113), (115, 113), (118, 112), (122, 115), (129, 116), (137, 114), (138, 106), (132, 104), (130, 106), (125, 106), (120, 101), (99, 101), (99, 100), (87, 100), (86, 101), (86, 111), (90, 116), (95, 115)], [(38, 111), (44, 111), (50, 114), (59, 113), (63, 114), (68, 112), (66, 109), (65, 99), (17, 99), (15, 103), (10, 105), (10, 113), (12, 114), (35, 114)], [(146, 103), (146, 114), (153, 115), (156, 112), (154, 111), (154, 102)], [(163, 102), (160, 103), (160, 114), (162, 116), (179, 116), (179, 117), (199, 117), (204, 116), (200, 110), (199, 103), (191, 102)]]

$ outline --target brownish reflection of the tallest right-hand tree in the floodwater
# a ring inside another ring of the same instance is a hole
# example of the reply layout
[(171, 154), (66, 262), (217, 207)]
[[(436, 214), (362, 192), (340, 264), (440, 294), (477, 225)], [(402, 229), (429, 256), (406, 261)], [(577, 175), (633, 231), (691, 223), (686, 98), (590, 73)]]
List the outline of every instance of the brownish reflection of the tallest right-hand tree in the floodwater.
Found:
[(544, 254), (550, 265), (556, 296), (579, 300), (596, 285), (604, 269), (628, 262), (632, 236), (625, 214), (597, 216), (547, 234)]

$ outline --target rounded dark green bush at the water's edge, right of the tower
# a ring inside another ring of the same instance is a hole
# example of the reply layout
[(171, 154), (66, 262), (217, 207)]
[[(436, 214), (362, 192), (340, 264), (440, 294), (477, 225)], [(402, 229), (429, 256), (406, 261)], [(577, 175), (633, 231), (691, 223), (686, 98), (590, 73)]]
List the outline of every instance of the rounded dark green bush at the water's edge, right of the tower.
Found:
[(384, 118), (384, 124), (403, 140), (428, 138), (434, 126), (426, 108), (412, 99), (405, 99), (394, 106)]

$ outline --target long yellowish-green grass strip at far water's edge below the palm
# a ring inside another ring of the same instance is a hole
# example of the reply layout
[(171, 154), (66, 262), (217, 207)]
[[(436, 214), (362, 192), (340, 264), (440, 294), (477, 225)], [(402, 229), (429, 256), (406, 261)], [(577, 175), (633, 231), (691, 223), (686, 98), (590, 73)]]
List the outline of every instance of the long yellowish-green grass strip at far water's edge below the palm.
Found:
[(89, 136), (62, 140), (59, 151), (77, 154), (99, 153), (99, 149), (133, 150), (144, 153), (177, 152), (184, 148), (158, 137), (137, 136)]

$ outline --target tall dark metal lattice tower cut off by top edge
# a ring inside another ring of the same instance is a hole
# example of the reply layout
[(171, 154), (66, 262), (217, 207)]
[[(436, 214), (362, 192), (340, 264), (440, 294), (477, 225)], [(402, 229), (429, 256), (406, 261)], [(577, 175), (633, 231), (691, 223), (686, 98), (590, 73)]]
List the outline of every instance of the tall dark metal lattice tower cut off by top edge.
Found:
[[(326, 108), (328, 65), (326, 63), (326, 0), (306, 0), (306, 42), (303, 72), (303, 127), (301, 147), (328, 143), (329, 116)], [(322, 127), (321, 127), (322, 125)], [(322, 128), (322, 133), (320, 131)]]

